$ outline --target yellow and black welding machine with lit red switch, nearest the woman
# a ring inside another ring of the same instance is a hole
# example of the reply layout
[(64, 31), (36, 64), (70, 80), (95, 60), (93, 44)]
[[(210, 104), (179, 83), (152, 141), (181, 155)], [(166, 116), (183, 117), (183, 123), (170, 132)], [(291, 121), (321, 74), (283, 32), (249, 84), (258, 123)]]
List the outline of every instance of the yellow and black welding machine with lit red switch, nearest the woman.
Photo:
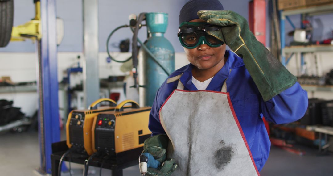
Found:
[[(127, 103), (131, 103), (132, 106), (124, 108)], [(94, 119), (92, 128), (94, 152), (106, 152), (123, 158), (132, 157), (134, 153), (140, 154), (144, 141), (151, 136), (148, 128), (151, 109), (151, 107), (140, 108), (137, 102), (126, 100), (121, 102), (115, 111), (99, 113)]]

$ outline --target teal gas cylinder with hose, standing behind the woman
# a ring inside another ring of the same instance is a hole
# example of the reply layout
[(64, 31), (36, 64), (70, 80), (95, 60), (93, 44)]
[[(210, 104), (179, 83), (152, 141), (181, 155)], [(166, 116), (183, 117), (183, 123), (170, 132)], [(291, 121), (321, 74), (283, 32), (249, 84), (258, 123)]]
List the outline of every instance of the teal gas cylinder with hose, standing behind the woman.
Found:
[[(174, 49), (171, 43), (164, 37), (167, 28), (167, 13), (147, 13), (146, 24), (149, 38), (145, 42), (147, 48), (153, 53), (168, 73), (174, 71)], [(140, 62), (140, 61), (139, 61)], [(152, 106), (157, 90), (167, 79), (166, 72), (143, 50), (141, 73), (143, 73), (143, 102), (145, 106)], [(139, 74), (140, 75), (140, 74)], [(140, 81), (139, 81), (140, 82)]]

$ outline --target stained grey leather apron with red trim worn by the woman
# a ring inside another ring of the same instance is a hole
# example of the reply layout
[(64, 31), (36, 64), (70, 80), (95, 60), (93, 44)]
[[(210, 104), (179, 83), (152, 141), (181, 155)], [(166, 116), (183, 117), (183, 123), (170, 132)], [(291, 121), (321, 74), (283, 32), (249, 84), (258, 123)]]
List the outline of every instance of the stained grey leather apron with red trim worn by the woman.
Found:
[(170, 139), (167, 158), (178, 164), (172, 175), (260, 175), (226, 92), (226, 81), (221, 92), (183, 89), (178, 80), (177, 89), (160, 109), (160, 121)]

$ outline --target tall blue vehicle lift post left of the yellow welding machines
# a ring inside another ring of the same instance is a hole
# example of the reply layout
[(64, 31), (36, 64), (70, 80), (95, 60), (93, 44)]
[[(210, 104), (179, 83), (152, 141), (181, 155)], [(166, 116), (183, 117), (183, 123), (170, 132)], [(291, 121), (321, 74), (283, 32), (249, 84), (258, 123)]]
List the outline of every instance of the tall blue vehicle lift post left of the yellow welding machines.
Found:
[(60, 141), (55, 0), (41, 1), (42, 39), (38, 41), (40, 172), (51, 173), (51, 145)]

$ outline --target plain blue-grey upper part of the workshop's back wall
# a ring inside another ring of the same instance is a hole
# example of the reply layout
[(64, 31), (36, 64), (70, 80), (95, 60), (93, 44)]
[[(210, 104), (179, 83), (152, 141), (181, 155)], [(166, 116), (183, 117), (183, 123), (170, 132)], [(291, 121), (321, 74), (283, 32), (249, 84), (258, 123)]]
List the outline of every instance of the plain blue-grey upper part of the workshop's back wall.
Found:
[[(34, 17), (32, 0), (15, 0), (14, 25), (23, 24)], [(116, 27), (128, 24), (128, 16), (140, 12), (166, 12), (169, 14), (169, 25), (166, 38), (172, 43), (176, 52), (183, 49), (176, 36), (178, 31), (178, 15), (181, 7), (187, 0), (99, 0), (99, 48), (106, 51), (106, 38)], [(248, 0), (223, 0), (224, 9), (233, 10), (247, 18)], [(59, 52), (83, 51), (83, 22), (82, 0), (57, 0), (57, 16), (64, 19), (65, 36), (58, 47)], [(146, 39), (146, 28), (139, 32), (141, 40)], [(130, 29), (121, 29), (111, 38), (111, 51), (119, 51), (113, 45), (118, 45), (121, 40), (132, 38)], [(11, 42), (0, 52), (35, 52), (35, 45), (30, 41)]]

